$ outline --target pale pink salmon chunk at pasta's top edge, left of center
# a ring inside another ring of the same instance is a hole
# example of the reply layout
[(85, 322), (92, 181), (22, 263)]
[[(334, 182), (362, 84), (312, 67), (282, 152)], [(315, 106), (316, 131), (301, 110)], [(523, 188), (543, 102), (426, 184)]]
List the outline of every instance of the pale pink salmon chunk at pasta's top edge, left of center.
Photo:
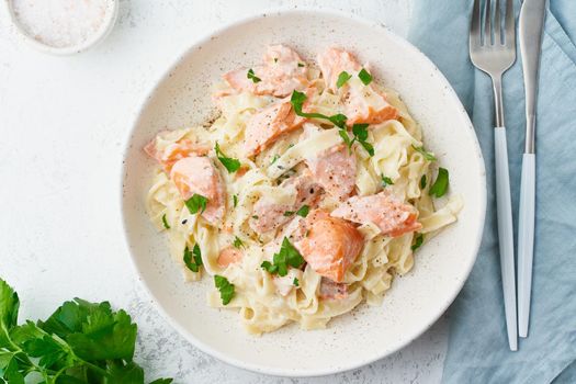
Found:
[(224, 80), (236, 91), (255, 94), (270, 94), (285, 98), (292, 91), (306, 88), (306, 67), (300, 55), (284, 45), (271, 45), (263, 57), (263, 64), (251, 68), (251, 78), (246, 68), (224, 75)]

